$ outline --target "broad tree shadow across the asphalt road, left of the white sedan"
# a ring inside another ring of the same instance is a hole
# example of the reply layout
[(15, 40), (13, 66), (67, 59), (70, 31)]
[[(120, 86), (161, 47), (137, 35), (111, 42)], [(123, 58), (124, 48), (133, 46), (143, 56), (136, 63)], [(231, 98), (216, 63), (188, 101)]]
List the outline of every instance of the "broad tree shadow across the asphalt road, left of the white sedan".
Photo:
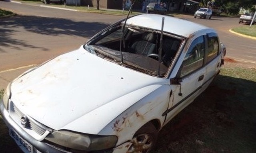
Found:
[[(22, 47), (46, 48), (30, 45), (22, 39), (16, 38), (20, 35), (19, 29), (24, 29), (24, 35), (37, 34), (46, 36), (78, 36), (91, 37), (98, 31), (104, 29), (110, 24), (101, 22), (76, 22), (63, 18), (46, 18), (38, 16), (13, 16), (11, 18), (0, 19), (0, 46), (21, 49)], [(43, 42), (42, 42), (43, 43)], [(0, 48), (0, 52), (5, 52)]]

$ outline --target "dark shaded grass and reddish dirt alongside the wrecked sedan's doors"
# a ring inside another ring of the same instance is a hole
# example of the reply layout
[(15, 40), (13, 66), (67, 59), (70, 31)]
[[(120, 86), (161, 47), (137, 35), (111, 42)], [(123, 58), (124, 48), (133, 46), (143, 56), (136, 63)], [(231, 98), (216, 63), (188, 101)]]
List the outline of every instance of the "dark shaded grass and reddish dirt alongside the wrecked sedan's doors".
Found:
[(256, 82), (219, 75), (160, 131), (152, 153), (252, 153)]

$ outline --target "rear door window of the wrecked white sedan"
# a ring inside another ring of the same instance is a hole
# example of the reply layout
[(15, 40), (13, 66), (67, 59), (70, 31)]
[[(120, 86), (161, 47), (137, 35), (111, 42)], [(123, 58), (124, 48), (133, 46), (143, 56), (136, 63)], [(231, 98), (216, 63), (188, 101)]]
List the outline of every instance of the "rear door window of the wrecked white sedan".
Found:
[(209, 63), (218, 55), (219, 43), (218, 36), (216, 33), (208, 33), (207, 34), (207, 59), (206, 63)]

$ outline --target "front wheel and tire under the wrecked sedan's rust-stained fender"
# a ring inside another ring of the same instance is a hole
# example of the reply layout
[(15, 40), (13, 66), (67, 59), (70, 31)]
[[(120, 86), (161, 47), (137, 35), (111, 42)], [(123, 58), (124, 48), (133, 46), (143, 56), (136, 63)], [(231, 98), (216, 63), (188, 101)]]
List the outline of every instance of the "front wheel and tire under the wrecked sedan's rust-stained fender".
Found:
[(149, 153), (157, 141), (158, 131), (151, 122), (142, 126), (134, 134), (130, 146), (126, 153)]

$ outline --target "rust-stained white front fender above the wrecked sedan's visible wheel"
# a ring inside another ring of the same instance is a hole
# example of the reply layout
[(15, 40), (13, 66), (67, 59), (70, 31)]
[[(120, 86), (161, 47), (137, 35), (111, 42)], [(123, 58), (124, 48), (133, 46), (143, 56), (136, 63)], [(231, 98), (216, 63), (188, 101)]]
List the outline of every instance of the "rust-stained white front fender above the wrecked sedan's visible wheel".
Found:
[(152, 120), (157, 121), (158, 125), (155, 126), (159, 130), (165, 120), (162, 113), (168, 108), (170, 92), (170, 85), (160, 86), (112, 120), (99, 135), (118, 136), (118, 146), (131, 141), (136, 131)]

